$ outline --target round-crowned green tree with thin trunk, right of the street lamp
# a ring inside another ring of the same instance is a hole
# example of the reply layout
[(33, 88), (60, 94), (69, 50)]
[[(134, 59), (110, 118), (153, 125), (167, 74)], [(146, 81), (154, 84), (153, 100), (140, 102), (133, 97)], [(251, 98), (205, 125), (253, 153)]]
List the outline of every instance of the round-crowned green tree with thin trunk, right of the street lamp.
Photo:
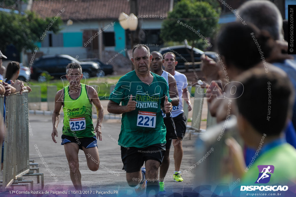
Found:
[[(219, 15), (220, 9), (216, 11), (208, 2), (181, 0), (163, 21), (160, 36), (166, 42), (183, 42), (186, 39), (192, 47), (204, 50), (211, 45), (209, 38), (218, 28)], [(190, 54), (194, 62), (193, 50)]]

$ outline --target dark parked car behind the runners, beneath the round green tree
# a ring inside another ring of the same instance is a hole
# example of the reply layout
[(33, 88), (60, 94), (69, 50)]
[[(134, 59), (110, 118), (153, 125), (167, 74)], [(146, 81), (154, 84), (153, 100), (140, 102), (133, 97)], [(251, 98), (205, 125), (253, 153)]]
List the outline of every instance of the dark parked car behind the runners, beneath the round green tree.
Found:
[[(188, 50), (187, 50), (188, 49)], [(191, 52), (192, 47), (191, 46), (186, 46), (186, 45), (179, 45), (179, 46), (171, 46), (171, 47), (164, 47), (159, 50), (159, 53), (162, 55), (167, 53), (167, 52), (173, 52), (176, 55), (176, 61), (178, 61), (178, 64), (176, 66), (176, 70), (178, 69), (185, 69), (185, 62), (192, 62), (191, 60)], [(194, 62), (201, 62), (201, 55), (205, 54), (209, 56), (210, 58), (216, 60), (215, 52), (203, 52), (202, 50), (198, 48), (193, 48), (193, 55), (194, 55)], [(198, 68), (200, 65), (197, 65), (196, 67)], [(189, 68), (192, 69), (192, 64), (189, 65)]]

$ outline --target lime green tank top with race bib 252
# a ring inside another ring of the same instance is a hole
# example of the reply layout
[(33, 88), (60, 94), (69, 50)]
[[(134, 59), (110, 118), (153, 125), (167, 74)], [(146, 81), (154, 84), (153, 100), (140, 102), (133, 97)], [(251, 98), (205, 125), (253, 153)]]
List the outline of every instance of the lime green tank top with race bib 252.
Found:
[(92, 104), (87, 96), (85, 84), (81, 85), (80, 96), (72, 99), (69, 95), (69, 86), (64, 88), (64, 121), (63, 134), (67, 136), (92, 137), (94, 125), (91, 119)]

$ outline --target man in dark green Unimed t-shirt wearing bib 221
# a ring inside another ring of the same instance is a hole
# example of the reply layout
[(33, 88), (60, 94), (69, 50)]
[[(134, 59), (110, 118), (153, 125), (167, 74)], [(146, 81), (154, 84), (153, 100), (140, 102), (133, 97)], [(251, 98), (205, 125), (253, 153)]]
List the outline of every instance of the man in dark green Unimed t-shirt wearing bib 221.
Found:
[(118, 145), (128, 185), (135, 187), (138, 195), (145, 188), (147, 195), (150, 191), (158, 193), (158, 169), (166, 143), (161, 109), (172, 111), (168, 84), (165, 78), (150, 72), (151, 60), (146, 45), (133, 48), (135, 70), (120, 78), (107, 108), (110, 113), (122, 114)]

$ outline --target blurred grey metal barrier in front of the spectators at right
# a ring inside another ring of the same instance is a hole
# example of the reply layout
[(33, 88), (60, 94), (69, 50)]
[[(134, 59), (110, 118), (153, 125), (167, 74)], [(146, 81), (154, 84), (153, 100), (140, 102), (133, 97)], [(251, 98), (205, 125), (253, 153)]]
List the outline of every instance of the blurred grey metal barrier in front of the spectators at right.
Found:
[[(226, 128), (223, 127), (225, 124)], [(212, 126), (198, 136), (195, 148), (196, 163), (193, 164), (195, 165), (194, 187), (233, 181), (232, 173), (228, 171), (225, 163), (225, 159), (229, 156), (225, 140), (230, 136), (242, 144), (235, 116)]]

